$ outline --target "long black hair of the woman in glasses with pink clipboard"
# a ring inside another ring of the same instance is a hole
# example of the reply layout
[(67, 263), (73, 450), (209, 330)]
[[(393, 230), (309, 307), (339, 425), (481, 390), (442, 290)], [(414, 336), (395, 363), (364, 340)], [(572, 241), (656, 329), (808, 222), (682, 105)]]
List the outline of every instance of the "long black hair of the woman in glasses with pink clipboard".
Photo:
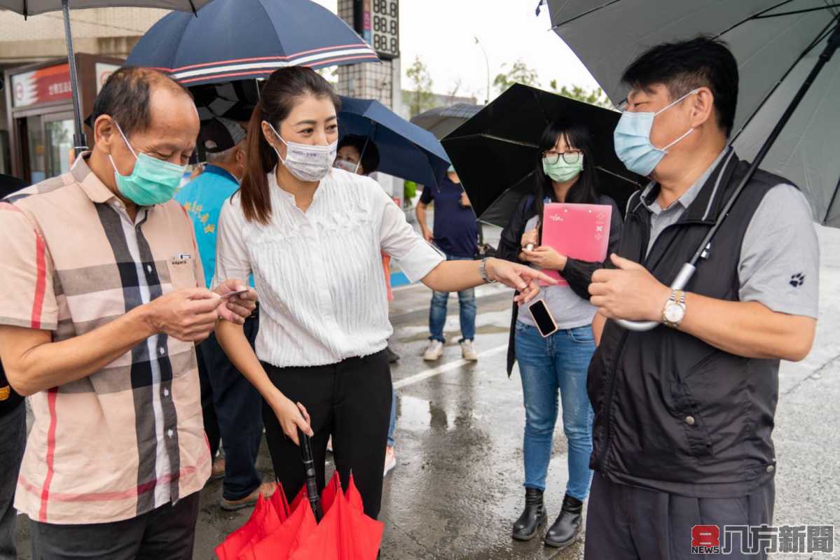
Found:
[[(564, 202), (575, 204), (596, 204), (598, 201), (598, 174), (595, 169), (595, 158), (592, 154), (592, 137), (589, 128), (581, 123), (558, 120), (550, 123), (543, 130), (543, 137), (539, 140), (539, 152), (537, 154), (536, 167), (534, 172), (534, 205), (537, 212), (538, 228), (543, 226), (543, 200), (546, 196), (552, 202), (559, 202), (554, 196), (554, 185), (551, 177), (543, 172), (543, 154), (554, 148), (557, 140), (564, 136), (566, 144), (570, 148), (580, 149), (583, 154), (583, 171), (578, 175), (577, 181), (566, 193)], [(542, 233), (542, 231), (540, 231)]]

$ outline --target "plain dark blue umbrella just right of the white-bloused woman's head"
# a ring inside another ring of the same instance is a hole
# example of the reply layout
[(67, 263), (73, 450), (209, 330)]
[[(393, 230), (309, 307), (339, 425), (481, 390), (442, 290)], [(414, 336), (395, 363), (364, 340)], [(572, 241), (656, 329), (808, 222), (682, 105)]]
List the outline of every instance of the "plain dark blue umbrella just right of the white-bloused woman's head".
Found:
[(388, 175), (438, 186), (450, 165), (433, 133), (372, 99), (341, 97), (339, 131), (374, 142), (379, 149), (379, 170)]

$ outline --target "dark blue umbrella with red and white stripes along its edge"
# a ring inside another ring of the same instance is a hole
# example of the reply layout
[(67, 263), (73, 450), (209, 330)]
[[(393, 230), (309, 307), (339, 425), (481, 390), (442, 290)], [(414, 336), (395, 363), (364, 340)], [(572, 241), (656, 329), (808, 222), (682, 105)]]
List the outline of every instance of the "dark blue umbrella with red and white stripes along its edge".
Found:
[(164, 16), (125, 64), (150, 66), (197, 86), (262, 78), (284, 66), (379, 60), (344, 21), (310, 0), (215, 0), (197, 16)]

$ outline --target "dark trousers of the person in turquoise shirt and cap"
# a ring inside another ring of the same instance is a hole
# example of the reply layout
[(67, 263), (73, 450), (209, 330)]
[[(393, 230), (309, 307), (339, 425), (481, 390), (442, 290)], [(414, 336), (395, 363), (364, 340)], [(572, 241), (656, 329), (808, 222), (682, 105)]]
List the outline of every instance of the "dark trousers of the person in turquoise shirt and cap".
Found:
[[(257, 317), (245, 320), (243, 330), (251, 348), (259, 328)], [(199, 368), (199, 380), (211, 456), (216, 456), (219, 437), (224, 449), (222, 496), (225, 500), (240, 500), (262, 483), (256, 468), (262, 441), (262, 397), (231, 364), (214, 333), (196, 349), (201, 356), (199, 364), (205, 370), (202, 374)]]

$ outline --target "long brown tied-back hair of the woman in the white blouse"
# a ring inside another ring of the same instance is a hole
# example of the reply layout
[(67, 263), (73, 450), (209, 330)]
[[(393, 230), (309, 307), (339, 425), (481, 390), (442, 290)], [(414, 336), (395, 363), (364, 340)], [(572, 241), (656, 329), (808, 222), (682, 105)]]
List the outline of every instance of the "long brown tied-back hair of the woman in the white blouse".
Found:
[(266, 175), (277, 165), (277, 154), (265, 140), (262, 122), (266, 121), (280, 131), (280, 123), (302, 97), (327, 97), (338, 113), (339, 96), (333, 86), (318, 72), (306, 66), (287, 66), (271, 73), (260, 88), (260, 102), (251, 113), (248, 123), (248, 163), (239, 196), (242, 212), (249, 222), (267, 224), (271, 218), (271, 196)]

